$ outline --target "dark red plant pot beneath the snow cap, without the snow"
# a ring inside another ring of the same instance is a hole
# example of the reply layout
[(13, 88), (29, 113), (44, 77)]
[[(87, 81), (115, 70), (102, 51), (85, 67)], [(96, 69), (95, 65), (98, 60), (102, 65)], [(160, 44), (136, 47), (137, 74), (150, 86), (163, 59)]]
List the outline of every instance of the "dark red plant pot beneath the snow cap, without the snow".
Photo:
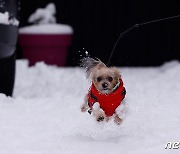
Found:
[(39, 61), (65, 66), (71, 40), (72, 34), (19, 34), (18, 43), (30, 66)]

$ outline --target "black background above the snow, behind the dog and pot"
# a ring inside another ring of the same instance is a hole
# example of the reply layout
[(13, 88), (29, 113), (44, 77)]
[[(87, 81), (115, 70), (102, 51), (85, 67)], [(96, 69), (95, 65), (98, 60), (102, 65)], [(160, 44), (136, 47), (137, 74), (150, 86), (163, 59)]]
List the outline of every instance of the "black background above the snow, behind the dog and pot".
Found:
[[(20, 26), (28, 25), (29, 15), (49, 2), (56, 4), (57, 22), (74, 29), (68, 66), (78, 65), (86, 50), (106, 63), (124, 30), (136, 23), (180, 14), (179, 0), (21, 0)], [(133, 30), (119, 42), (111, 64), (157, 66), (173, 59), (180, 59), (180, 18)]]

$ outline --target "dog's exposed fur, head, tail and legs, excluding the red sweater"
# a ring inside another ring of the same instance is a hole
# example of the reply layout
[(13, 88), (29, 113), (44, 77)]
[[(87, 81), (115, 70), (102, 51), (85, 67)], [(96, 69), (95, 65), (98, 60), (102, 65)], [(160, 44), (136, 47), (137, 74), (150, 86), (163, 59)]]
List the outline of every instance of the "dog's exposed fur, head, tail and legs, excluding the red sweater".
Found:
[[(81, 66), (86, 69), (86, 77), (94, 83), (96, 89), (102, 94), (112, 93), (114, 91), (114, 87), (121, 78), (119, 70), (116, 67), (107, 67), (99, 59), (93, 59), (90, 57), (83, 58), (81, 60)], [(86, 95), (81, 111), (85, 112), (88, 109), (88, 95)], [(108, 121), (110, 118), (105, 115), (104, 111), (100, 108), (99, 103), (95, 103), (95, 105), (93, 105), (92, 113), (96, 117), (97, 121), (103, 121), (104, 119)], [(116, 112), (113, 117), (115, 123), (122, 123), (122, 119)]]

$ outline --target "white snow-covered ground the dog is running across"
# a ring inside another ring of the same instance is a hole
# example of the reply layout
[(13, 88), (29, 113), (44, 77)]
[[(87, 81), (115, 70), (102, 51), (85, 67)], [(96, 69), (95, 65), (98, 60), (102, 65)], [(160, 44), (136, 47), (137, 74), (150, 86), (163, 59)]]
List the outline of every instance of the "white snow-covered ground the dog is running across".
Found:
[(97, 123), (80, 105), (81, 68), (17, 61), (14, 97), (0, 94), (0, 154), (164, 154), (180, 142), (180, 63), (119, 68), (127, 89), (122, 125)]

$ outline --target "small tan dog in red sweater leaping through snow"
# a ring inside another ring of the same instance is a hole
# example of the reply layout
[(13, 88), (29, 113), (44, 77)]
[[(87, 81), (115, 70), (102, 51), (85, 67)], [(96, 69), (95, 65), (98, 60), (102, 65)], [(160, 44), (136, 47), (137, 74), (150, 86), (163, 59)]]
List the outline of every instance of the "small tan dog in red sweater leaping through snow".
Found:
[(92, 81), (89, 93), (85, 96), (85, 103), (81, 111), (92, 113), (97, 121), (109, 120), (111, 116), (117, 124), (122, 119), (116, 113), (125, 97), (126, 90), (119, 70), (116, 67), (107, 67), (99, 59), (83, 58), (81, 65), (86, 69), (86, 77)]

